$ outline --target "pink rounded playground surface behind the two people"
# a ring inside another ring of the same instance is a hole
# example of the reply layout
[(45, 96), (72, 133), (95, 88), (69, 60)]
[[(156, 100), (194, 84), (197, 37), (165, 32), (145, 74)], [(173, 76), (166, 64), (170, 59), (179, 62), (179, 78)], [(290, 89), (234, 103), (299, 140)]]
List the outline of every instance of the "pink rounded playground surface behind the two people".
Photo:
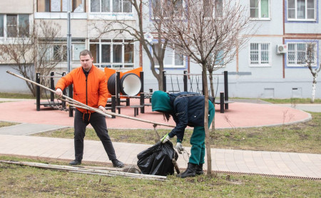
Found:
[[(148, 103), (148, 101), (149, 99), (146, 99), (146, 103)], [(35, 100), (24, 100), (0, 103), (0, 120), (16, 123), (73, 126), (73, 117), (69, 117), (68, 112), (65, 110), (54, 110), (50, 107), (42, 107), (40, 111), (37, 111), (35, 102)], [(140, 99), (131, 99), (131, 105), (138, 105), (139, 103)], [(121, 109), (121, 114), (134, 117), (134, 110), (130, 106), (125, 106)], [(169, 125), (175, 124), (173, 120), (170, 120), (168, 123), (165, 122), (163, 115), (152, 112), (150, 106), (146, 106), (145, 113), (139, 112), (136, 118)], [(220, 113), (220, 105), (215, 105), (215, 128), (217, 129), (288, 125), (310, 119), (310, 113), (280, 105), (235, 102), (230, 104), (230, 108), (225, 110), (225, 113)], [(151, 123), (143, 123), (126, 118), (106, 118), (106, 121), (108, 128), (153, 129)], [(158, 126), (158, 128), (170, 127)]]

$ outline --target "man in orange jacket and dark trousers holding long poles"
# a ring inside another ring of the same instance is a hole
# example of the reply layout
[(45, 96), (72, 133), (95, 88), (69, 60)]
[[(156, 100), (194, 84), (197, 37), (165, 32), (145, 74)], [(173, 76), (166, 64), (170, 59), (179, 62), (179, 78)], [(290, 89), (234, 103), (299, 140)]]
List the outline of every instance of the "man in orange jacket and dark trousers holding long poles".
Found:
[[(84, 50), (80, 53), (81, 67), (74, 69), (66, 76), (58, 80), (56, 95), (62, 96), (62, 90), (73, 84), (73, 99), (92, 108), (99, 108), (106, 111), (107, 103), (107, 81), (103, 71), (93, 66), (91, 51)], [(108, 135), (106, 118), (91, 110), (76, 108), (74, 119), (74, 144), (75, 160), (69, 165), (80, 165), (83, 160), (83, 138), (86, 133), (86, 126), (91, 124), (99, 139), (103, 143), (109, 160), (113, 167), (123, 167), (123, 162), (117, 160), (113, 143)]]

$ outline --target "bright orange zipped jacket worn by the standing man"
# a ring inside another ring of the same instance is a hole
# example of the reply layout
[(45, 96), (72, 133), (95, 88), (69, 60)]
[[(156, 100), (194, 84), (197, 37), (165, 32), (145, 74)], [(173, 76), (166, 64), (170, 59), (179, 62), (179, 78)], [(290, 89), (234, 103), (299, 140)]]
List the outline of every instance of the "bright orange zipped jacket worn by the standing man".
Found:
[[(106, 75), (96, 66), (91, 67), (87, 80), (82, 67), (73, 69), (73, 71), (58, 80), (56, 89), (63, 90), (71, 84), (73, 84), (74, 100), (92, 108), (98, 108), (100, 105), (106, 106), (108, 98)], [(83, 113), (93, 113), (90, 110), (77, 109)]]

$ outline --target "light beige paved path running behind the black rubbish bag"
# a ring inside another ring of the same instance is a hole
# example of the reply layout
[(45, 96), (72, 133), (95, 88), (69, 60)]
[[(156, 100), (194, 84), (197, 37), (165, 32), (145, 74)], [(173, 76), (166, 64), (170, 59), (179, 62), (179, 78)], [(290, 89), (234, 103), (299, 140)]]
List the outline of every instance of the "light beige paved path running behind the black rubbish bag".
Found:
[[(136, 165), (139, 152), (152, 145), (113, 142), (118, 159)], [(190, 152), (190, 147), (185, 148)], [(73, 160), (73, 139), (0, 135), (0, 154)], [(294, 152), (212, 149), (212, 170), (245, 174), (272, 174), (321, 179), (321, 155)], [(85, 140), (84, 161), (111, 162), (100, 141)], [(188, 155), (179, 155), (178, 166), (187, 167)], [(206, 159), (204, 168), (207, 168)]]

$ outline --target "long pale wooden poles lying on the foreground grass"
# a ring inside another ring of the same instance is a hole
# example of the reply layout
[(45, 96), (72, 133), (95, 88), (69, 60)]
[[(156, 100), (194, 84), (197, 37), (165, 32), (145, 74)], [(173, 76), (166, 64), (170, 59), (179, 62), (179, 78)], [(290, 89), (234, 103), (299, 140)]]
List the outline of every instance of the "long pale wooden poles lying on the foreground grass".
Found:
[(83, 167), (71, 167), (71, 166), (63, 166), (63, 165), (49, 165), (37, 162), (16, 162), (16, 161), (6, 161), (0, 160), (1, 163), (12, 164), (12, 165), (24, 165), (29, 167), (39, 167), (44, 169), (51, 169), (51, 170), (62, 170), (68, 172), (77, 172), (77, 173), (84, 173), (84, 174), (99, 174), (105, 176), (123, 176), (123, 177), (131, 177), (131, 178), (138, 178), (138, 179), (153, 179), (153, 180), (165, 180), (165, 176), (159, 175), (151, 175), (151, 174), (136, 174), (130, 172), (121, 172), (121, 171), (112, 171), (112, 170), (94, 170), (90, 168), (83, 168)]

